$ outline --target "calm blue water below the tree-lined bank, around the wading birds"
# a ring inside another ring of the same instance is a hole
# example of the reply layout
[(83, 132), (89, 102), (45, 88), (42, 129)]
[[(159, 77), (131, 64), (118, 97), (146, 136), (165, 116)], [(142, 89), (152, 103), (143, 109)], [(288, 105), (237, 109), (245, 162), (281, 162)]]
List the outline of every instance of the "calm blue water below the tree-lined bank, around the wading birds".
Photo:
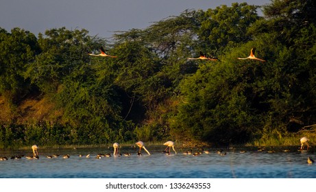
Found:
[[(97, 154), (111, 153), (111, 149), (39, 149), (38, 160), (0, 161), (0, 178), (316, 178), (316, 164), (308, 165), (307, 156), (316, 160), (313, 151), (298, 152), (297, 147), (274, 148), (275, 153), (258, 152), (256, 148), (224, 149), (226, 156), (209, 148), (210, 154), (200, 156), (162, 154), (164, 146), (147, 146), (151, 156), (136, 149), (122, 147), (121, 153), (131, 156), (95, 158)], [(290, 152), (284, 152), (290, 149)], [(245, 150), (245, 153), (240, 153)], [(193, 149), (193, 152), (195, 149)], [(32, 149), (3, 151), (0, 156), (31, 155)], [(58, 158), (47, 155), (60, 154)], [(68, 159), (62, 155), (69, 154)], [(82, 154), (83, 157), (79, 157)], [(90, 158), (86, 158), (90, 154)]]

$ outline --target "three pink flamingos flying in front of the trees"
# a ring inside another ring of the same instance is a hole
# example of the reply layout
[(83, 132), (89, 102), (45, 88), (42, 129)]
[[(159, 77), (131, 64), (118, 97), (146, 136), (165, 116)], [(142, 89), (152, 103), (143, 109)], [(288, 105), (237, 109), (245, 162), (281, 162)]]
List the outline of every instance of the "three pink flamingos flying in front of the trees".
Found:
[[(261, 62), (265, 62), (265, 60), (262, 60), (260, 58), (256, 58), (256, 56), (254, 56), (254, 53), (256, 51), (256, 47), (253, 47), (250, 51), (250, 56), (248, 56), (247, 58), (237, 58), (239, 60), (259, 60)], [(101, 57), (110, 57), (110, 58), (117, 58), (117, 56), (110, 56), (108, 54), (106, 54), (106, 51), (104, 51), (103, 47), (100, 47), (100, 52), (99, 54), (93, 54), (93, 53), (88, 53), (89, 56), (101, 56)], [(188, 58), (188, 60), (212, 60), (212, 61), (217, 61), (219, 60), (218, 58), (214, 57), (214, 56), (206, 56), (204, 53), (202, 53), (202, 51), (199, 52), (199, 57), (198, 58)]]

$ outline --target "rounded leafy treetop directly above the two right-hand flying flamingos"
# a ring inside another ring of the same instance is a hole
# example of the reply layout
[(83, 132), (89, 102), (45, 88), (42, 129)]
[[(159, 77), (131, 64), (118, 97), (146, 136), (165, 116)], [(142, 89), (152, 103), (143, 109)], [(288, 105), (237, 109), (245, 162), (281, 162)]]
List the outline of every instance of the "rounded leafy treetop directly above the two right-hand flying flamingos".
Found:
[(252, 36), (247, 34), (247, 28), (260, 19), (257, 9), (258, 6), (247, 3), (232, 3), (231, 7), (221, 5), (213, 10), (208, 9), (198, 33), (202, 49), (212, 54), (221, 53), (226, 47), (252, 40)]

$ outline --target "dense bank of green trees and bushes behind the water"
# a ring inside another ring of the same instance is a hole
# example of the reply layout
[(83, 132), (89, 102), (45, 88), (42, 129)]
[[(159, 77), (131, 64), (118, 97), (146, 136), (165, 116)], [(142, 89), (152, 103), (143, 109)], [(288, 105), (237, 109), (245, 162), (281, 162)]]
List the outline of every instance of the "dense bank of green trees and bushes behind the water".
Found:
[[(0, 147), (300, 134), (316, 122), (316, 3), (274, 0), (264, 16), (257, 9), (186, 10), (112, 42), (86, 29), (36, 38), (0, 28), (0, 95), (12, 114), (0, 118)], [(88, 56), (101, 46), (117, 58)], [(267, 62), (237, 60), (252, 47)], [(199, 51), (219, 60), (187, 60)], [(23, 117), (19, 107), (34, 97), (53, 104), (53, 115)]]

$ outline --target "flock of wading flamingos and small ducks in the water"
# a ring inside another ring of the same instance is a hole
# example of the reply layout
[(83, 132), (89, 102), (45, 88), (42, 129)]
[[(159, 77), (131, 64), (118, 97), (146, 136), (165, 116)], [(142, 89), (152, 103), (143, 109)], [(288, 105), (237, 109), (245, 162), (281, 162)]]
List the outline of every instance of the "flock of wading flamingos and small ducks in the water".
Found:
[[(309, 145), (308, 145), (308, 141), (309, 139), (304, 136), (300, 139), (300, 143), (301, 143), (301, 147), (300, 147), (300, 150), (304, 150), (304, 144), (307, 145), (306, 147), (306, 150), (308, 150), (309, 148)], [(151, 155), (150, 152), (146, 149), (143, 141), (138, 141), (137, 143), (135, 143), (135, 145), (137, 145), (139, 147), (138, 149), (138, 152), (137, 152), (137, 155), (138, 156), (142, 156), (141, 154), (141, 149), (144, 149), (145, 152), (147, 152), (148, 155)], [(173, 141), (167, 141), (166, 143), (164, 143), (163, 145), (166, 145), (166, 149), (164, 151), (162, 151), (163, 153), (167, 154), (167, 155), (170, 155), (171, 154), (171, 148), (173, 149), (173, 152), (175, 154), (177, 154), (177, 152), (175, 151), (175, 143)], [(122, 154), (119, 153), (119, 143), (114, 143), (113, 144), (113, 148), (114, 148), (114, 152), (113, 152), (113, 156), (122, 156)], [(169, 150), (168, 150), (169, 148)], [(258, 152), (263, 152), (265, 149), (264, 148), (261, 148), (259, 147), (258, 148)], [(32, 156), (25, 156), (25, 158), (27, 159), (38, 159), (39, 156), (38, 156), (38, 146), (37, 145), (33, 145), (32, 146), (32, 152), (33, 152), (33, 155)], [(268, 153), (273, 153), (274, 150), (269, 150), (267, 151)], [(284, 150), (284, 152), (289, 152), (289, 150)], [(202, 154), (208, 154), (209, 151), (208, 150), (204, 150), (203, 148), (200, 148), (200, 150), (198, 152), (193, 152), (192, 149), (189, 149), (188, 151), (186, 152), (182, 152), (182, 154), (184, 155), (192, 155), (192, 156), (199, 156), (199, 155), (202, 155)], [(245, 151), (241, 151), (240, 153), (245, 153)], [(226, 155), (226, 152), (223, 152), (223, 149), (217, 151), (217, 154), (219, 154), (220, 156), (225, 156)], [(58, 154), (53, 154), (52, 156), (46, 156), (47, 158), (57, 158)], [(79, 155), (80, 157), (82, 157), (82, 154)], [(96, 158), (103, 158), (103, 157), (110, 157), (111, 154), (97, 154)], [(130, 153), (125, 153), (123, 154), (123, 156), (131, 156)], [(12, 156), (11, 159), (19, 159), (19, 158), (22, 158), (24, 157), (23, 155), (20, 155), (20, 156)], [(64, 156), (62, 156), (62, 158), (70, 158), (69, 154), (65, 154)], [(90, 154), (86, 155), (86, 158), (90, 158)], [(0, 160), (8, 160), (8, 157), (5, 157), (5, 156), (2, 156), (0, 157)], [(315, 163), (315, 161), (310, 157), (308, 156), (307, 158), (307, 163), (308, 164), (313, 164)]]

